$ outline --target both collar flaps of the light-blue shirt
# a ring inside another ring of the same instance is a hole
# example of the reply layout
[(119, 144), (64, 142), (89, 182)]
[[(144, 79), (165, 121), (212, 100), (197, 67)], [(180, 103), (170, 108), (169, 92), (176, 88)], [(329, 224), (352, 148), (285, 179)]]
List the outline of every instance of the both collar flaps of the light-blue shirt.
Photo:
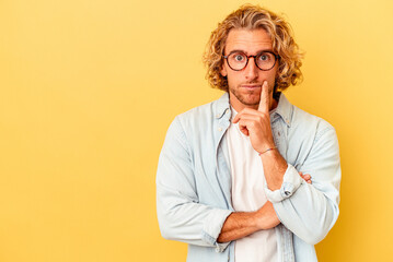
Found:
[[(220, 119), (226, 114), (231, 114), (229, 104), (229, 94), (226, 92), (215, 104), (215, 118)], [(276, 120), (278, 117), (285, 121), (285, 123), (291, 126), (292, 105), (288, 102), (287, 97), (281, 93), (278, 100), (278, 105), (271, 114), (271, 119)]]

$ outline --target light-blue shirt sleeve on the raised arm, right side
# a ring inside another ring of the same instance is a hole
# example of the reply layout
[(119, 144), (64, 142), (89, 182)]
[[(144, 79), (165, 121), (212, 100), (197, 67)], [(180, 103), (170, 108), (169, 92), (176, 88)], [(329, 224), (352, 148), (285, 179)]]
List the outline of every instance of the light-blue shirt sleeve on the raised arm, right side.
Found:
[[(298, 171), (311, 175), (312, 183)], [(315, 245), (337, 221), (340, 177), (337, 135), (330, 126), (315, 136), (299, 170), (288, 164), (281, 188), (265, 188), (265, 192), (280, 222), (303, 241)]]

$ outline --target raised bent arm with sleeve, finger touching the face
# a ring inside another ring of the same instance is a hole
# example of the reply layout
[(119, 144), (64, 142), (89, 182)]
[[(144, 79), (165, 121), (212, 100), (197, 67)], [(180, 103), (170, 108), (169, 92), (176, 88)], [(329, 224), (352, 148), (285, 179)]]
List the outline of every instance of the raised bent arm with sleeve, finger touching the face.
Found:
[[(233, 122), (257, 152), (275, 147), (269, 105), (271, 97), (267, 84), (263, 85), (258, 110), (244, 109)], [(321, 128), (308, 158), (300, 171), (310, 174), (313, 184), (303, 182), (293, 166), (277, 150), (261, 155), (264, 164), (268, 200), (280, 222), (299, 238), (309, 243), (321, 241), (338, 217), (340, 165), (338, 141), (330, 124)]]

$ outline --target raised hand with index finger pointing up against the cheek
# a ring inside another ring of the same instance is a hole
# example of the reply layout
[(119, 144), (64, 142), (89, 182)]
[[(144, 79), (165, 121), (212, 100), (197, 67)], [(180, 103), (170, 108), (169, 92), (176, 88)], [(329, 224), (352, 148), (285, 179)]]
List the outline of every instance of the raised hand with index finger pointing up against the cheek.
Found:
[(244, 108), (232, 121), (233, 123), (239, 122), (240, 131), (250, 136), (253, 148), (258, 153), (275, 147), (270, 127), (270, 99), (267, 81), (264, 81), (258, 109)]

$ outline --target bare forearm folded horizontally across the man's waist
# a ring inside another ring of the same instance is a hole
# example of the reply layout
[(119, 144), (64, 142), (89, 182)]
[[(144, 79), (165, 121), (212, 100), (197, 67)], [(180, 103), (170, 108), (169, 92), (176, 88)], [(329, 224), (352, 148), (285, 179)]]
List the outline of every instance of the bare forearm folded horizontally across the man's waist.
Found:
[(227, 217), (218, 242), (229, 242), (263, 229), (269, 229), (279, 224), (279, 219), (270, 202), (255, 212), (234, 212)]

